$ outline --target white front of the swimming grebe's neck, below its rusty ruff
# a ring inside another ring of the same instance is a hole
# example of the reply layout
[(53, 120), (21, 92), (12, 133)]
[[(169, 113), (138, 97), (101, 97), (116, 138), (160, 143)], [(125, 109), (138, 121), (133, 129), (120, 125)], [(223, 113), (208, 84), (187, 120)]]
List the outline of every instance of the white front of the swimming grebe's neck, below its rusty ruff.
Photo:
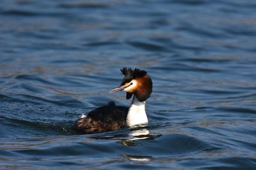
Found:
[(134, 95), (132, 99), (132, 104), (129, 108), (128, 115), (126, 118), (126, 124), (129, 127), (139, 124), (147, 124), (148, 118), (145, 111), (146, 102), (140, 102), (137, 97)]

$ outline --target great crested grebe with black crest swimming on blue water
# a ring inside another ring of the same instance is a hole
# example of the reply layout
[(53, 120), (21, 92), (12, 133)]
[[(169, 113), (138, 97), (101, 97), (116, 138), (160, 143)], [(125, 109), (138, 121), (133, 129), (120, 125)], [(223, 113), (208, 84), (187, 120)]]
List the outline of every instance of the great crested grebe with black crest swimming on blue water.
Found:
[(107, 106), (101, 106), (90, 111), (87, 116), (82, 115), (76, 120), (74, 129), (83, 133), (106, 132), (120, 129), (125, 126), (132, 127), (147, 124), (148, 118), (145, 104), (152, 93), (152, 80), (147, 71), (142, 69), (121, 69), (124, 79), (120, 87), (110, 90), (109, 93), (125, 91), (126, 99), (133, 95), (131, 106), (116, 106), (110, 101)]

